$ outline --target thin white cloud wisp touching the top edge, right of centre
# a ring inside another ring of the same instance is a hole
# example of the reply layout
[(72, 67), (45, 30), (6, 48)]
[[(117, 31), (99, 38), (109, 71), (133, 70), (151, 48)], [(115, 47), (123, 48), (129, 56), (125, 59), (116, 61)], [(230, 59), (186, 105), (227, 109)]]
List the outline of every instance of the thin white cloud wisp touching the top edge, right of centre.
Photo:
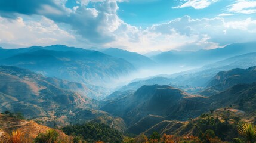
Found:
[(214, 4), (219, 0), (185, 0), (186, 2), (177, 7), (172, 8), (184, 8), (184, 7), (193, 7), (195, 9), (203, 9), (209, 7), (209, 5)]

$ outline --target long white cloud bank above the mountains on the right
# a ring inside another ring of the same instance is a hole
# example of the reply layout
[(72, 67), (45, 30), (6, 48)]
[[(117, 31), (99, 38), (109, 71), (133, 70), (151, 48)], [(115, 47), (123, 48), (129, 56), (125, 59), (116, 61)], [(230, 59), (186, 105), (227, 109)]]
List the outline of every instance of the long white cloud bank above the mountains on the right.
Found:
[[(155, 24), (147, 29), (122, 29), (116, 40), (104, 44), (145, 52), (161, 49), (168, 51), (212, 49), (229, 43), (254, 41), (256, 20), (226, 21), (224, 18), (193, 19), (189, 16)], [(133, 33), (132, 33), (133, 32)]]

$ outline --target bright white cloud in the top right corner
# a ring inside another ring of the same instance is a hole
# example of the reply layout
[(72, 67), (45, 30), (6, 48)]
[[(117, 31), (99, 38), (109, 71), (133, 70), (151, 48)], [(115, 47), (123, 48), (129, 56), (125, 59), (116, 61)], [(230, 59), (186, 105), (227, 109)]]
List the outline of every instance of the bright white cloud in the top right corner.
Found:
[(229, 11), (232, 13), (254, 14), (256, 13), (255, 0), (238, 0), (235, 4), (228, 6)]

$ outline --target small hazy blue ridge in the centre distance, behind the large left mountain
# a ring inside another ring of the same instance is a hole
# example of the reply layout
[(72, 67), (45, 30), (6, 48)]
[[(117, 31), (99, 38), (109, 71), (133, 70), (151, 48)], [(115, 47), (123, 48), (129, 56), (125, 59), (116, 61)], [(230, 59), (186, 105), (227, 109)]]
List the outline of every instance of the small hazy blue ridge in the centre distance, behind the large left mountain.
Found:
[(129, 52), (118, 48), (108, 48), (102, 51), (104, 54), (111, 55), (116, 58), (123, 58), (124, 60), (132, 63), (137, 68), (153, 66), (155, 64), (150, 58), (140, 55), (136, 52)]

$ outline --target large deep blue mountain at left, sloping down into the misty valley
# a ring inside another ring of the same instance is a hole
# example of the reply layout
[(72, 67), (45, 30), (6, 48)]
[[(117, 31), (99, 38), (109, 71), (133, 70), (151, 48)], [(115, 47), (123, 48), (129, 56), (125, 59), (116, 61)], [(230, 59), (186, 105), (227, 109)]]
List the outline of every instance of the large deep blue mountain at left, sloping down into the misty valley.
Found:
[(108, 83), (135, 70), (122, 58), (63, 45), (0, 49), (0, 57), (1, 65), (23, 67), (44, 76), (84, 83), (95, 92), (94, 97), (104, 97), (110, 92), (104, 86), (110, 86)]

